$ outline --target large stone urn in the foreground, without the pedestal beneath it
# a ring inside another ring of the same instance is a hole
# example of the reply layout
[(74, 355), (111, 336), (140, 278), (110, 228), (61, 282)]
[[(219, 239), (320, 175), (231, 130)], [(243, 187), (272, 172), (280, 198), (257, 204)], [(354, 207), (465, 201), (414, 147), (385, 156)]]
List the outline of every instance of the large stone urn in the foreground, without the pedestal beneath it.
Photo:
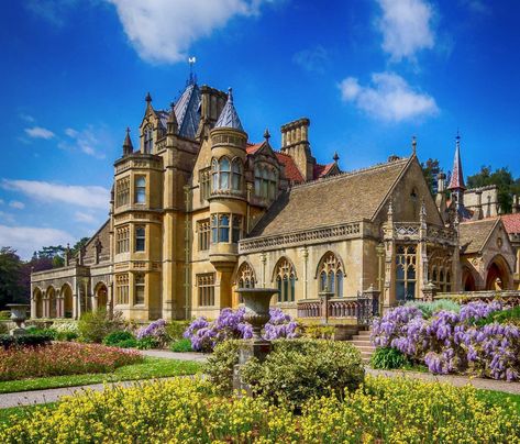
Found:
[(262, 329), (270, 319), (270, 300), (278, 290), (276, 288), (239, 288), (236, 292), (244, 301), (244, 320), (253, 326), (253, 341), (262, 341)]

